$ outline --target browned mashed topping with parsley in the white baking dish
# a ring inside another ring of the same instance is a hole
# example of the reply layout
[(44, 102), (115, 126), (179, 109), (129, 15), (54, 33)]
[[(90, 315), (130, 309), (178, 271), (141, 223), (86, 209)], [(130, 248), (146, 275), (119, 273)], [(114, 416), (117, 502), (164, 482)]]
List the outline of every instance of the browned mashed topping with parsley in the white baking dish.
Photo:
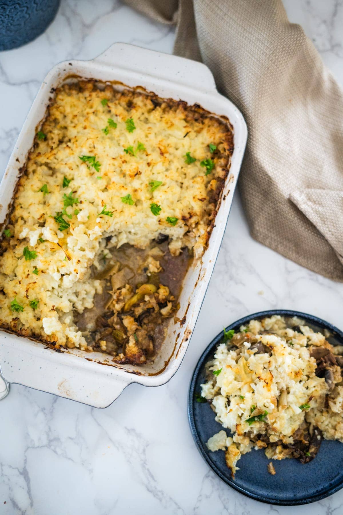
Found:
[[(56, 90), (4, 228), (0, 324), (56, 347), (87, 344), (104, 242), (204, 251), (232, 153), (228, 123), (200, 106), (94, 81)], [(105, 239), (106, 238), (106, 239)]]

